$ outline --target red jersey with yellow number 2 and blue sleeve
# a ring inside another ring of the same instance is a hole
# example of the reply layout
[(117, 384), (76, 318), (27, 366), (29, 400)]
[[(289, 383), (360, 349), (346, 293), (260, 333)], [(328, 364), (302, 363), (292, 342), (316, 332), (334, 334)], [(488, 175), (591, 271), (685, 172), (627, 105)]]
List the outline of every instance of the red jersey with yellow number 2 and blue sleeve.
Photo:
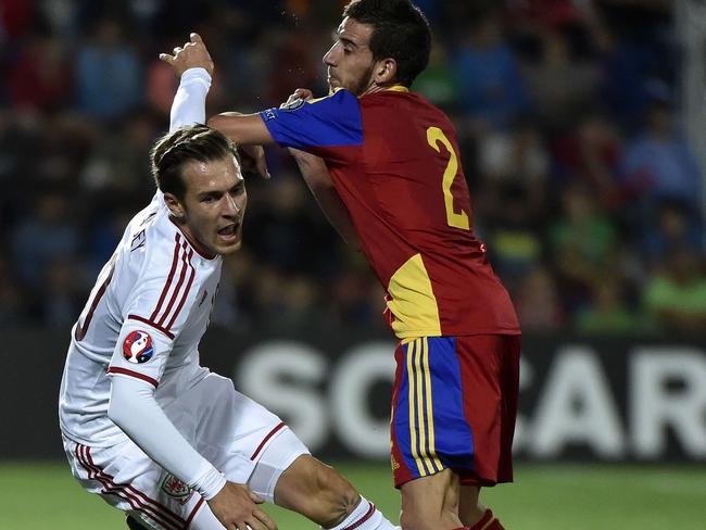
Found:
[(281, 146), (322, 156), (401, 338), (519, 333), (515, 310), (474, 236), (449, 118), (395, 87), (346, 90), (261, 113)]

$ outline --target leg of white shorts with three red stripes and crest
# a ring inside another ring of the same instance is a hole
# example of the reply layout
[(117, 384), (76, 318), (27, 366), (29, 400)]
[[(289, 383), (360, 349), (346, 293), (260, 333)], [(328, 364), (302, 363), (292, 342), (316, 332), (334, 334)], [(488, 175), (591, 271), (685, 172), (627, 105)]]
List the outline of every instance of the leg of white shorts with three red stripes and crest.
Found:
[(130, 440), (111, 447), (91, 447), (64, 439), (64, 449), (72, 472), (87, 491), (147, 528), (186, 528), (204, 504), (200, 495)]

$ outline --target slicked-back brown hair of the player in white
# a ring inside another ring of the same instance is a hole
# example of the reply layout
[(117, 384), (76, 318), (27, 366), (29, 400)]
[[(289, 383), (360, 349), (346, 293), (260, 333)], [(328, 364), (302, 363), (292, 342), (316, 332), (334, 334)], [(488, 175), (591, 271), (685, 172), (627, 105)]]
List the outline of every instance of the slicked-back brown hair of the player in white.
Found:
[(163, 193), (172, 193), (182, 200), (186, 185), (181, 168), (191, 161), (213, 162), (235, 156), (238, 160), (236, 144), (220, 131), (206, 125), (192, 125), (160, 138), (150, 151), (152, 176), (156, 187)]

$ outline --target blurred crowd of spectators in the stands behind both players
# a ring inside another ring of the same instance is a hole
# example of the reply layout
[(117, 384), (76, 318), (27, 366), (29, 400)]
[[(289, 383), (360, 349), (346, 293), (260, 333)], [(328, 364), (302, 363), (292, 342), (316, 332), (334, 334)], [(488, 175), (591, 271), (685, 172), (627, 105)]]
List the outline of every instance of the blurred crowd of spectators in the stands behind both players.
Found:
[[(323, 94), (343, 3), (0, 0), (0, 329), (68, 328), (152, 197), (148, 153), (177, 85), (160, 52), (202, 35), (209, 114)], [(678, 121), (672, 2), (417, 3), (436, 41), (414, 88), (457, 127), (476, 230), (524, 329), (706, 329), (704, 182)], [(248, 177), (214, 324), (383, 328), (363, 256), (286, 151), (268, 162), (272, 180)]]

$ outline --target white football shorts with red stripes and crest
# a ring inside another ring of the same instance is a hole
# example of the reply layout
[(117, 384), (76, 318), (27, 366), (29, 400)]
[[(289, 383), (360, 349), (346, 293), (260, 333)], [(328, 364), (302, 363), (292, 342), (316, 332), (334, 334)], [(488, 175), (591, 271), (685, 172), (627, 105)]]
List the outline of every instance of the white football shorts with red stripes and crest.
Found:
[[(231, 482), (247, 483), (274, 502), (281, 474), (306, 446), (274, 414), (210, 374), (167, 405), (179, 432)], [(74, 477), (110, 505), (150, 528), (187, 529), (203, 506), (201, 495), (160, 467), (131, 440), (91, 447), (64, 437)]]

